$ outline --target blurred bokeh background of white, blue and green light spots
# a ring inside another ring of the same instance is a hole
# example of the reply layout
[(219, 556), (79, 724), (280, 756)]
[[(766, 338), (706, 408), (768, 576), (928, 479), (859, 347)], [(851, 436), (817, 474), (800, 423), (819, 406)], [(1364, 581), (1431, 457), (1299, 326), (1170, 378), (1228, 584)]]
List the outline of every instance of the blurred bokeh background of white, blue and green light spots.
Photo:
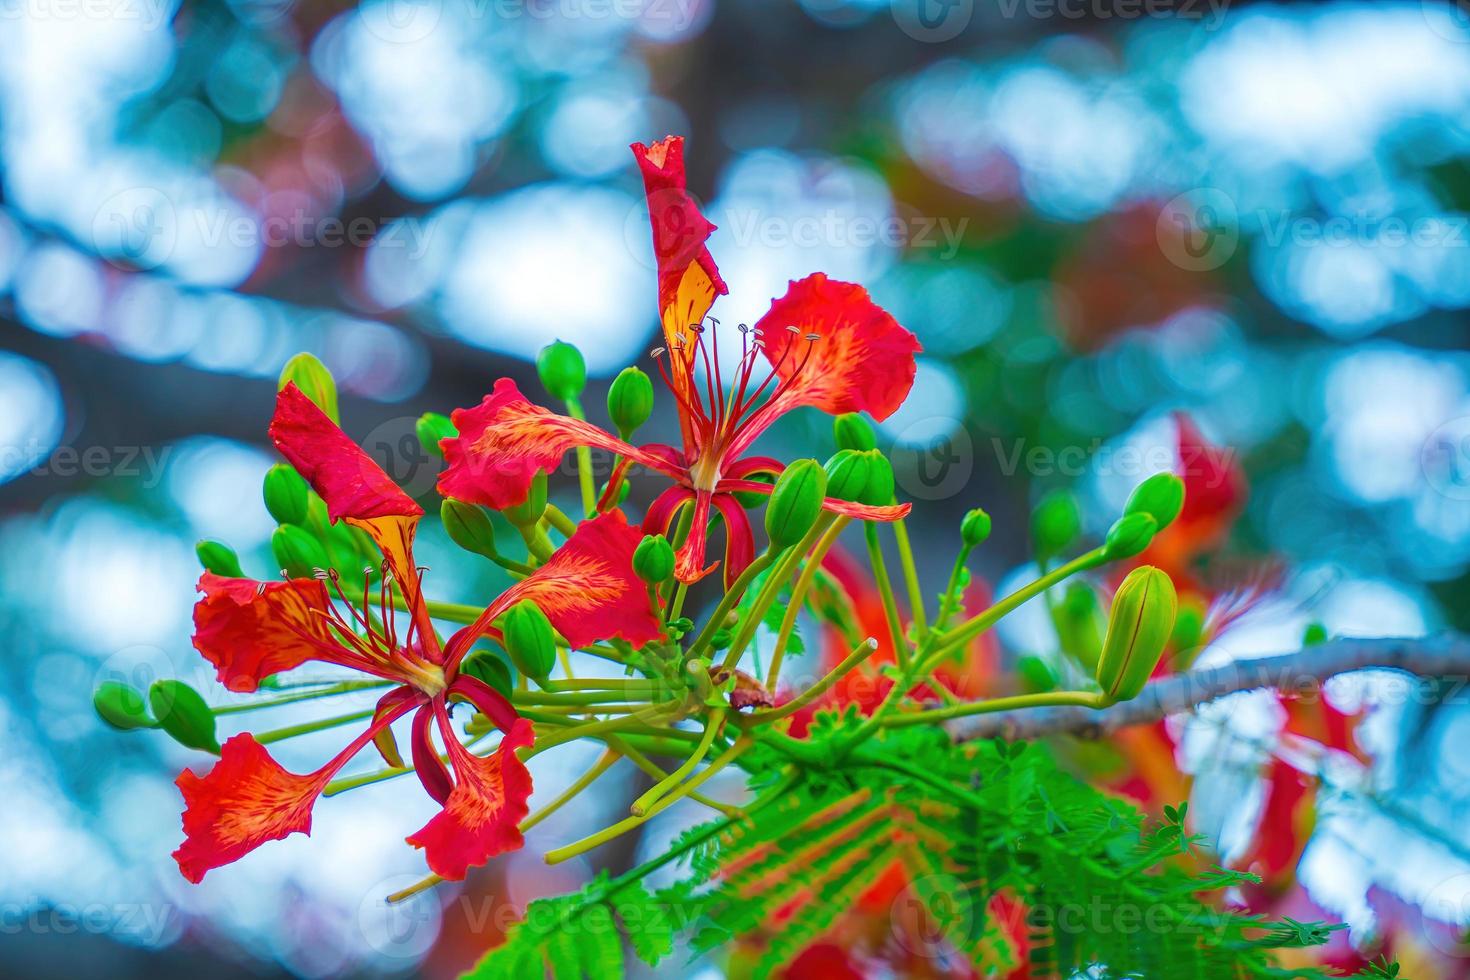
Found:
[[(1286, 570), (1211, 657), (1292, 649), (1308, 621), (1470, 627), (1466, 13), (0, 0), (0, 973), (451, 976), (504, 926), (382, 907), (422, 873), (401, 837), (432, 804), (406, 783), (325, 801), (310, 840), (187, 886), (172, 779), (198, 755), (107, 730), (90, 698), (157, 676), (223, 696), (188, 644), (193, 544), (228, 541), (268, 573), (265, 426), (293, 353), (331, 366), (345, 428), (419, 494), (422, 411), (500, 375), (535, 389), (528, 359), (554, 338), (585, 353), (594, 406), (647, 360), (635, 140), (689, 137), (732, 287), (722, 320), (825, 270), (923, 341), (882, 429), (933, 588), (969, 507), (995, 516), (976, 569), (1001, 588), (1030, 574), (1042, 492), (1073, 488), (1105, 527), (1169, 467), (1185, 410), (1248, 473), (1229, 550)], [(825, 455), (826, 426), (791, 419), (772, 447)], [(420, 558), (444, 598), (498, 585), (442, 535)], [(1045, 646), (1036, 619), (1007, 646)], [(1380, 680), (1329, 692), (1373, 707), (1357, 733), (1372, 764), (1319, 796), (1299, 865), (1358, 942), (1385, 908), (1454, 921), (1470, 892), (1470, 713)], [(1272, 710), (1233, 698), (1180, 742), (1222, 860), (1255, 835)], [(588, 757), (537, 763), (554, 793)], [(672, 835), (541, 868), (626, 805), (617, 773), (472, 879), (478, 908)], [(669, 976), (692, 974), (720, 976)]]

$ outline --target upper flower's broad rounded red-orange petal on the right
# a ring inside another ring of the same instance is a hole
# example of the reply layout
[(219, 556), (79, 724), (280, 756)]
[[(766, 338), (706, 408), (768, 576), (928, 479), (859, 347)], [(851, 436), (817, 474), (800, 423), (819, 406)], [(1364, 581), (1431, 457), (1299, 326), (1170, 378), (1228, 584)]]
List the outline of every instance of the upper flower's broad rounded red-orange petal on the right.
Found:
[[(795, 328), (795, 332), (786, 328)], [(831, 414), (867, 411), (886, 419), (914, 383), (919, 339), (898, 326), (867, 289), (816, 272), (794, 281), (756, 323), (766, 357), (785, 382), (761, 410), (759, 432), (775, 416), (797, 406)], [(808, 334), (819, 339), (807, 341)], [(732, 454), (744, 451), (754, 435)]]

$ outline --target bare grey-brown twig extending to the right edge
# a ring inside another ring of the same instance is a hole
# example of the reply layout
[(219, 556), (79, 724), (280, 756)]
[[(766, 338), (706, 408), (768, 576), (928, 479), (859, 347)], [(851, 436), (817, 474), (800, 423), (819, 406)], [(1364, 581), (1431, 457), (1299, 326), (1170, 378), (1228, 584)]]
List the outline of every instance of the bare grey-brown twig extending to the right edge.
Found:
[[(1022, 708), (951, 721), (956, 741), (1029, 739), (1041, 735), (1101, 738), (1130, 724), (1148, 724), (1169, 714), (1189, 711), (1238, 691), (1276, 688), (1301, 698), (1322, 696), (1322, 683), (1333, 674), (1380, 667), (1420, 677), (1452, 682), (1455, 696), (1470, 680), (1470, 636), (1394, 636), (1383, 639), (1333, 639), (1294, 654), (1238, 660), (1208, 670), (1191, 670), (1151, 682), (1132, 701), (1110, 708)], [(1460, 695), (1464, 696), (1464, 695)]]

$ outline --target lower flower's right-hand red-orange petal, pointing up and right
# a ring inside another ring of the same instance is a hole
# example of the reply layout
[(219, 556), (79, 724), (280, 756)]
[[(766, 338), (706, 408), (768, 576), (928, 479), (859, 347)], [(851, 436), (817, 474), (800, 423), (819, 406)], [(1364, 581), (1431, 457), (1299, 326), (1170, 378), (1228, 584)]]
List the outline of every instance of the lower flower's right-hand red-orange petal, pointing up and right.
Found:
[(531, 576), (510, 586), (475, 623), (448, 642), (445, 660), (459, 664), (495, 619), (520, 599), (532, 599), (572, 646), (620, 636), (634, 646), (662, 636), (648, 607), (648, 588), (634, 574), (634, 550), (642, 535), (620, 510), (584, 520), (576, 533)]

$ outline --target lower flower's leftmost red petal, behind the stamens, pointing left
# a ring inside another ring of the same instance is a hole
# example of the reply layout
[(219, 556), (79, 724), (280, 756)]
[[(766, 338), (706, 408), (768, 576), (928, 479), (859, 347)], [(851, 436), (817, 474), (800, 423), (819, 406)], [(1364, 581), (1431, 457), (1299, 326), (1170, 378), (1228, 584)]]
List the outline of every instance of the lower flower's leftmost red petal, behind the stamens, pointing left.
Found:
[(326, 586), (316, 579), (253, 582), (206, 572), (198, 591), (194, 649), (231, 691), (248, 693), (269, 674), (309, 660), (360, 666), (325, 626)]

